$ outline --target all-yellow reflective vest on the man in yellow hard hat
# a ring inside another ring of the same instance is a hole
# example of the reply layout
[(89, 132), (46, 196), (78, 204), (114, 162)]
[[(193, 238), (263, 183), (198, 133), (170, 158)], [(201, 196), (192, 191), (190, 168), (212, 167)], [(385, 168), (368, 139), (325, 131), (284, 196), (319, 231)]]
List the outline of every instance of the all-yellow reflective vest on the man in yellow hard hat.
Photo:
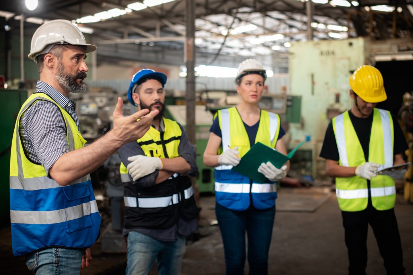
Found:
[[(335, 139), (339, 152), (339, 165), (356, 167), (366, 162), (363, 148), (346, 111), (332, 120)], [(368, 145), (368, 162), (380, 164), (380, 168), (393, 165), (394, 131), (392, 115), (387, 110), (374, 108)], [(336, 195), (342, 211), (361, 211), (368, 204), (367, 179), (360, 176), (336, 178)], [(394, 207), (396, 188), (389, 176), (377, 175), (370, 180), (371, 202), (377, 210)]]

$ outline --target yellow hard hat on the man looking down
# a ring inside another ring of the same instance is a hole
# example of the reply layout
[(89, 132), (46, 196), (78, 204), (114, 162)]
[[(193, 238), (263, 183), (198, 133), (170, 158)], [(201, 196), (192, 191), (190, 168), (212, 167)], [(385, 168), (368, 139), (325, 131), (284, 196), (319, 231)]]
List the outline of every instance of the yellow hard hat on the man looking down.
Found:
[(350, 76), (350, 87), (361, 99), (369, 103), (387, 99), (382, 74), (370, 65), (363, 65), (354, 71)]

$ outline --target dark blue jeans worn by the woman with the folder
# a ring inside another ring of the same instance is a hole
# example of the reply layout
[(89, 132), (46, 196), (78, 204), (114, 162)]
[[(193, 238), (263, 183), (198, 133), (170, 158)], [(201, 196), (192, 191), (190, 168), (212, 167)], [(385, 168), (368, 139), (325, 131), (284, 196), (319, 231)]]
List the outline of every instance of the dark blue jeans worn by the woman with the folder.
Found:
[(259, 210), (249, 208), (235, 211), (219, 204), (215, 206), (221, 230), (227, 275), (244, 275), (245, 232), (248, 239), (250, 275), (268, 274), (268, 250), (275, 218), (275, 206)]

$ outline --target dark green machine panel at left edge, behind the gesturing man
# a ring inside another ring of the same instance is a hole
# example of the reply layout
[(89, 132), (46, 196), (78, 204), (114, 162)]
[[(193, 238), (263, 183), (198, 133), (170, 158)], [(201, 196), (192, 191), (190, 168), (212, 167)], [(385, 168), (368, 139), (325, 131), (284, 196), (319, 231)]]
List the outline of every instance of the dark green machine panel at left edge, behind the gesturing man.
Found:
[(10, 198), (9, 198), (9, 170), (10, 170), (10, 149), (14, 124), (21, 105), (27, 99), (27, 91), (0, 89), (2, 98), (1, 110), (2, 119), (0, 120), (0, 173), (2, 183), (0, 185), (0, 220), (3, 225), (10, 221)]

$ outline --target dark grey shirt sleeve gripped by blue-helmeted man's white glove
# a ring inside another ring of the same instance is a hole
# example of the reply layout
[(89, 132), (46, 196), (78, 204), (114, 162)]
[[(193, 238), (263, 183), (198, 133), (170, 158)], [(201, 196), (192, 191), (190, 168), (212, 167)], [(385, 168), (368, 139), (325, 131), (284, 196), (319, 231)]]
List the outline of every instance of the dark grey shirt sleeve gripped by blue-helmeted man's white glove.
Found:
[[(128, 164), (131, 163), (128, 160), (128, 157), (131, 157), (134, 155), (145, 155), (142, 148), (139, 146), (138, 142), (136, 141), (132, 141), (132, 142), (124, 144), (121, 148), (119, 148), (118, 153), (125, 167), (127, 167)], [(138, 179), (137, 181), (134, 181), (131, 177), (131, 174), (128, 173), (128, 176), (131, 182), (134, 184), (138, 184), (141, 187), (154, 186), (158, 175), (159, 175), (159, 170), (155, 170), (155, 172), (149, 175), (146, 175), (146, 176), (142, 176), (142, 178)]]

